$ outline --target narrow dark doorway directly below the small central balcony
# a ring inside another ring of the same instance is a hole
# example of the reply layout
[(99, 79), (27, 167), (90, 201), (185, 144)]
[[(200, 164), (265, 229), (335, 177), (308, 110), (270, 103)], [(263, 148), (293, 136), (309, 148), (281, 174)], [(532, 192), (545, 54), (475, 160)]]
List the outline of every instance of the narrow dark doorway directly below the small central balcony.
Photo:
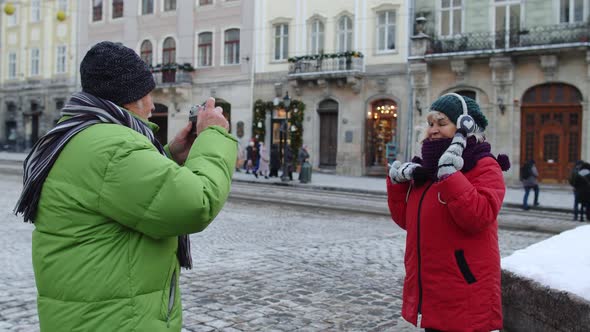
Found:
[(336, 168), (338, 155), (338, 102), (322, 101), (318, 107), (320, 116), (320, 164), (321, 168)]

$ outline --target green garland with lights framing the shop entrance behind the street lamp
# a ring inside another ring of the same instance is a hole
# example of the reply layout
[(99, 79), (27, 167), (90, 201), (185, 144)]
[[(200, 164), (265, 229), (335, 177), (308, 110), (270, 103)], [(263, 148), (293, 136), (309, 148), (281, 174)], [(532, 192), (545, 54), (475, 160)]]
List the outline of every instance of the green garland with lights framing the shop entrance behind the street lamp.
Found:
[[(284, 108), (283, 101), (279, 103), (279, 108)], [(266, 137), (266, 112), (272, 112), (275, 109), (272, 101), (256, 100), (254, 103), (254, 113), (252, 121), (252, 136), (256, 140)], [(289, 135), (291, 139), (291, 150), (295, 159), (299, 153), (299, 148), (303, 144), (303, 119), (305, 114), (305, 104), (297, 99), (292, 99), (289, 105)], [(260, 125), (259, 125), (260, 124)]]

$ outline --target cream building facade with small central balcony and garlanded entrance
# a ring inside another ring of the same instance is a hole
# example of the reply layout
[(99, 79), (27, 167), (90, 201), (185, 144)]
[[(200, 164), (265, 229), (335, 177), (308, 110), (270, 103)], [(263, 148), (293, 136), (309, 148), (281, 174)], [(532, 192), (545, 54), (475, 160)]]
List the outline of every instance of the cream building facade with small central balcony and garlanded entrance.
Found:
[(281, 128), (300, 127), (314, 168), (385, 174), (405, 153), (412, 114), (406, 1), (254, 2), (255, 99), (274, 105), (288, 93), (305, 107), (300, 124), (296, 108), (266, 109), (257, 139), (282, 151), (295, 136)]

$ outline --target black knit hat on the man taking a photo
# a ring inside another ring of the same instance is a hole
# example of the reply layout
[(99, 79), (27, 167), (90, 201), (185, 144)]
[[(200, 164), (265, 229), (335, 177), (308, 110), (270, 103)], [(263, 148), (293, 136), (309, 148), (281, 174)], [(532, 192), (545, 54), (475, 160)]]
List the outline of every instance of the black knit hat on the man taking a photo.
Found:
[(82, 91), (122, 106), (140, 100), (155, 87), (148, 65), (132, 49), (103, 41), (80, 64)]

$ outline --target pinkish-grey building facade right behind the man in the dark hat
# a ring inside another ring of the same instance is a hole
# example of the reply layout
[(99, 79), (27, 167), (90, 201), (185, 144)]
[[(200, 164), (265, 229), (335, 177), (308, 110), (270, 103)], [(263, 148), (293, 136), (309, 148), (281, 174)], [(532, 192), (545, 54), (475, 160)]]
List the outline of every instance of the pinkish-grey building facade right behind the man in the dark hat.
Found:
[(189, 109), (209, 96), (246, 139), (251, 123), (252, 15), (240, 0), (96, 0), (80, 4), (78, 62), (92, 45), (109, 40), (134, 50), (153, 68), (158, 138), (185, 126)]

